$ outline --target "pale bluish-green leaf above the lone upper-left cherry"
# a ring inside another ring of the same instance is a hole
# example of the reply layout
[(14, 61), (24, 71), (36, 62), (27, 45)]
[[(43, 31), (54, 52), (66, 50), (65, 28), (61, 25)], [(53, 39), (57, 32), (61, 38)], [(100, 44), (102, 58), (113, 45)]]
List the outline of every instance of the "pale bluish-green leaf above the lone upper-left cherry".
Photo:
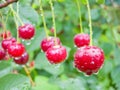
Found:
[(24, 23), (37, 24), (39, 20), (38, 13), (29, 5), (20, 5), (19, 14)]

